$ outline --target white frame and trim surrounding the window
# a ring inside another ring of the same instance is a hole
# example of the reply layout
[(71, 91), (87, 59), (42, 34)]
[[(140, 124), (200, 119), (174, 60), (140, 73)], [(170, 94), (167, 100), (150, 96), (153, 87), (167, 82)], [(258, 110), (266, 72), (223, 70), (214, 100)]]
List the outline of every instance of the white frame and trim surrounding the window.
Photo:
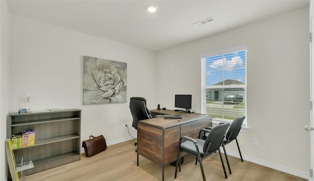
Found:
[[(201, 54), (200, 56), (201, 57), (201, 113), (206, 113), (206, 88), (207, 88), (206, 87), (206, 58), (211, 57), (211, 56), (216, 56), (216, 55), (237, 52), (237, 51), (243, 51), (243, 50), (246, 50), (246, 56), (247, 56), (247, 45), (225, 48), (222, 50)], [(238, 88), (238, 87), (239, 87), (238, 85), (229, 85), (229, 86), (224, 86), (223, 88)], [(247, 126), (247, 97), (246, 97), (247, 95), (247, 62), (245, 63), (245, 86), (244, 87), (245, 87), (245, 116), (246, 118), (243, 122), (243, 125), (242, 125), (243, 129), (241, 129), (241, 131), (247, 132), (249, 129), (249, 127)], [(217, 86), (217, 88), (220, 88), (220, 87)], [(213, 118), (212, 126), (216, 126), (220, 122), (228, 122), (228, 121), (223, 121), (221, 119)]]

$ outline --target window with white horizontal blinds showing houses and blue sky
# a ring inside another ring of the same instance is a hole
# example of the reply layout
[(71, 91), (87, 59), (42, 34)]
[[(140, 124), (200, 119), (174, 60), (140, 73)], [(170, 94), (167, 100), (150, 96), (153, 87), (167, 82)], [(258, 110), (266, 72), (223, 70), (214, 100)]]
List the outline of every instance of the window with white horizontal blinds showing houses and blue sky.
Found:
[(244, 45), (201, 55), (202, 113), (213, 122), (246, 116), (246, 50)]

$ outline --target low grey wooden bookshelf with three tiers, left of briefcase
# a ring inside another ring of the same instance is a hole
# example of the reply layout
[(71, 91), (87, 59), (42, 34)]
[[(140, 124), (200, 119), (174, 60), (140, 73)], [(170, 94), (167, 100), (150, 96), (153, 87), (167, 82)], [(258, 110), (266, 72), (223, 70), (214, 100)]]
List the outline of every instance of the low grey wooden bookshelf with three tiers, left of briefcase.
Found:
[(10, 113), (8, 138), (27, 129), (35, 131), (35, 144), (14, 149), (17, 163), (32, 160), (34, 168), (25, 175), (80, 159), (81, 110), (68, 109), (40, 113)]

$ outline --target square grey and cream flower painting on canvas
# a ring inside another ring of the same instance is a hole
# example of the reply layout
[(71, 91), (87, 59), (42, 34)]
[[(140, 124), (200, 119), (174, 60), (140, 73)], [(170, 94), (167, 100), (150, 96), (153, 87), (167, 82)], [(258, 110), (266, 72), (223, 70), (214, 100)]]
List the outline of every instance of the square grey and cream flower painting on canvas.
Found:
[(127, 63), (84, 56), (83, 105), (127, 102)]

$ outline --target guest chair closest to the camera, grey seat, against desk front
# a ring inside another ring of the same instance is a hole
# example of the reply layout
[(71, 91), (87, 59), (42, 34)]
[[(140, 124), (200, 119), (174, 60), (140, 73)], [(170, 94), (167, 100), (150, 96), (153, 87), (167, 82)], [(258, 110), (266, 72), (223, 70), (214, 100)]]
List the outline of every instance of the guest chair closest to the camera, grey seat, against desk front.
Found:
[[(209, 133), (206, 140), (193, 139), (188, 136), (181, 136), (179, 140), (179, 146), (178, 146), (175, 178), (177, 178), (178, 165), (179, 165), (179, 172), (181, 172), (181, 152), (185, 152), (187, 154), (190, 154), (196, 157), (195, 165), (197, 164), (197, 161), (200, 162), (203, 180), (206, 181), (202, 160), (204, 158), (209, 157), (211, 154), (215, 153), (218, 150), (219, 156), (221, 159), (222, 168), (224, 170), (225, 177), (227, 179), (228, 177), (227, 177), (225, 165), (221, 157), (221, 152), (219, 148), (220, 148), (220, 145), (222, 144), (223, 138), (226, 134), (228, 127), (229, 127), (229, 124), (226, 123), (226, 124), (216, 126), (212, 128), (211, 130), (202, 129), (203, 132)], [(186, 140), (186, 141), (182, 142), (182, 140)]]

